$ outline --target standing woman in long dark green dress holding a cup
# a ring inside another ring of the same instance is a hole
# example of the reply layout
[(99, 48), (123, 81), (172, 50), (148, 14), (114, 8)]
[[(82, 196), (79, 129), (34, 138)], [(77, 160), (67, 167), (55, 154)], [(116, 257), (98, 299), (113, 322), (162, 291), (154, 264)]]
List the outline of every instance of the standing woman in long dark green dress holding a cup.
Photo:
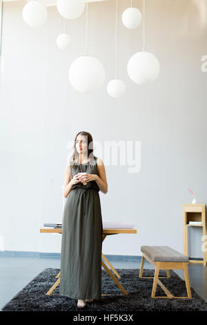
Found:
[[(84, 173), (86, 174), (80, 174)], [(60, 294), (78, 299), (77, 306), (101, 299), (102, 217), (99, 190), (108, 184), (103, 161), (93, 155), (92, 136), (81, 131), (66, 167), (63, 195)]]

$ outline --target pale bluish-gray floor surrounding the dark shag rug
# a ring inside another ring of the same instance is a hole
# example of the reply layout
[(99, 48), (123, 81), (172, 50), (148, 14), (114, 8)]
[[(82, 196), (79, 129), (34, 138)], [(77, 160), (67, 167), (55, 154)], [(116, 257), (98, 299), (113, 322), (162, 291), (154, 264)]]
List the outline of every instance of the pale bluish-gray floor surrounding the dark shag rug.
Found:
[[(130, 257), (107, 256), (115, 268), (140, 268), (141, 260)], [(145, 262), (145, 268), (153, 267)], [(0, 257), (0, 310), (14, 295), (24, 288), (45, 268), (60, 268), (60, 259), (43, 257)], [(176, 271), (183, 278), (182, 271)], [(190, 286), (207, 302), (207, 266), (190, 264), (188, 266)]]

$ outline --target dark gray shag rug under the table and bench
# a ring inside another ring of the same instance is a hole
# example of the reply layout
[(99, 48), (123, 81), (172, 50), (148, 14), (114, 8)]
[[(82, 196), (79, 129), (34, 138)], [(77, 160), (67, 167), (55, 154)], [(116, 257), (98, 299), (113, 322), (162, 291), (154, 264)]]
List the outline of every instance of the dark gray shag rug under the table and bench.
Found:
[[(206, 302), (191, 288), (193, 299), (152, 299), (153, 279), (140, 279), (139, 269), (117, 270), (121, 279), (119, 282), (128, 295), (123, 295), (114, 281), (102, 270), (101, 299), (95, 299), (86, 307), (77, 308), (77, 299), (59, 295), (59, 286), (52, 295), (46, 293), (57, 280), (59, 269), (46, 268), (37, 277), (15, 295), (1, 310), (3, 311), (207, 311)], [(144, 270), (143, 276), (153, 277), (154, 270)], [(159, 276), (166, 277), (165, 271)], [(164, 285), (175, 296), (186, 296), (185, 282), (170, 271), (170, 279), (161, 279)], [(110, 294), (110, 295), (107, 295)], [(156, 295), (165, 293), (157, 285)]]

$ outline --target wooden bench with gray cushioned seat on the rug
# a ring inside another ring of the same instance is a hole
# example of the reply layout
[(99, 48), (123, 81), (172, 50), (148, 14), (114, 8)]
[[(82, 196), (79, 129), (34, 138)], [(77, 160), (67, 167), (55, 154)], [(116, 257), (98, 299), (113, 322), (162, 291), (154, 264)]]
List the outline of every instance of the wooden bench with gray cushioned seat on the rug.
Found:
[[(189, 259), (186, 255), (172, 250), (168, 246), (141, 246), (141, 252), (143, 253), (141, 258), (141, 268), (139, 271), (139, 277), (144, 279), (154, 279), (152, 286), (152, 298), (192, 298), (190, 291), (190, 281), (188, 278), (188, 264)], [(147, 259), (153, 266), (155, 266), (155, 275), (154, 277), (142, 277), (142, 272), (144, 268), (144, 261)], [(167, 277), (159, 277), (159, 270), (166, 270)], [(186, 282), (186, 290), (188, 297), (175, 297), (170, 291), (161, 283), (159, 279), (170, 278), (170, 270), (183, 270), (184, 279)], [(164, 297), (155, 297), (157, 284), (161, 286), (166, 296)]]

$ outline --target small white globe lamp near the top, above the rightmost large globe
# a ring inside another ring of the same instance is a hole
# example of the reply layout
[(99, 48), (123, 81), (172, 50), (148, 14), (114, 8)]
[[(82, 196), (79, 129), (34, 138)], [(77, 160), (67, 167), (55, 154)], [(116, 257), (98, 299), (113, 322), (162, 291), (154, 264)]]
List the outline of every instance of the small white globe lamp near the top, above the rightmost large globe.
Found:
[(134, 29), (141, 24), (141, 12), (137, 8), (127, 8), (124, 10), (121, 20), (126, 28)]

